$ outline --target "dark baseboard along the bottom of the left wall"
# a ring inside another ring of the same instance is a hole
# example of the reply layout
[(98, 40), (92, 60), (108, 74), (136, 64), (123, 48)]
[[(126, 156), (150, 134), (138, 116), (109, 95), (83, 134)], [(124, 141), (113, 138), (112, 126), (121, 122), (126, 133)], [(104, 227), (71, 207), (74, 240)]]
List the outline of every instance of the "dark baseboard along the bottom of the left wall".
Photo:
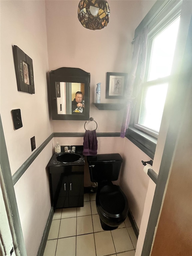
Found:
[(51, 227), (51, 222), (52, 222), (52, 218), (53, 218), (53, 213), (54, 213), (53, 212), (53, 207), (51, 207), (50, 212), (49, 212), (49, 216), (47, 218), (47, 222), (46, 222), (46, 225), (45, 225), (45, 229), (44, 229), (44, 232), (43, 232), (43, 236), (42, 236), (42, 239), (41, 239), (41, 243), (39, 245), (37, 256), (43, 256), (43, 254), (44, 254), (47, 238), (48, 238), (48, 235), (49, 235), (49, 229)]

